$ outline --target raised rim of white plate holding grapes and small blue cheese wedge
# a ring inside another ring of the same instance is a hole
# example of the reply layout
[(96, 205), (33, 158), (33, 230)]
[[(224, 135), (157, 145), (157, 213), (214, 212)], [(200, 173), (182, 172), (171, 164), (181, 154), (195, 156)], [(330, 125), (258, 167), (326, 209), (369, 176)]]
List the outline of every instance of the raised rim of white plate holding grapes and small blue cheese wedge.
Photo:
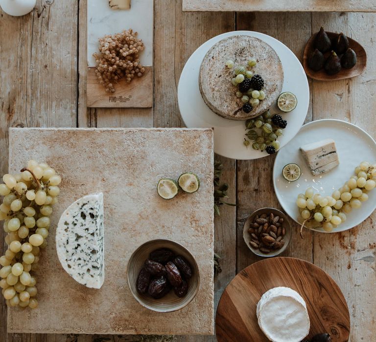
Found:
[[(310, 125), (317, 125), (317, 124), (320, 124), (320, 123), (323, 123), (323, 122), (340, 122), (341, 124), (348, 125), (348, 126), (350, 126), (350, 127), (352, 127), (352, 128), (355, 128), (355, 129), (361, 131), (362, 134), (364, 134), (367, 138), (369, 138), (369, 139), (374, 143), (375, 148), (376, 148), (376, 141), (375, 141), (375, 139), (374, 139), (374, 138), (373, 138), (368, 132), (366, 132), (363, 128), (360, 128), (359, 126), (356, 126), (355, 124), (352, 124), (351, 122), (348, 122), (348, 121), (339, 120), (339, 119), (318, 119), (318, 120), (313, 120), (313, 121), (307, 122), (306, 124), (304, 124), (304, 125), (302, 126), (301, 129), (303, 129), (303, 128), (307, 127), (307, 126), (310, 126)], [(301, 129), (299, 130), (299, 132), (301, 131)], [(299, 134), (299, 132), (298, 132), (297, 134)], [(291, 139), (291, 140), (292, 140), (292, 139)], [(299, 222), (296, 218), (290, 216), (290, 215), (287, 213), (285, 207), (283, 206), (282, 197), (279, 195), (279, 192), (276, 191), (276, 189), (277, 189), (277, 184), (276, 184), (276, 178), (277, 178), (277, 177), (276, 177), (276, 172), (277, 172), (277, 171), (275, 171), (275, 170), (276, 170), (275, 166), (276, 166), (277, 158), (278, 158), (278, 153), (277, 153), (276, 158), (274, 159), (274, 163), (273, 163), (273, 188), (274, 188), (274, 193), (276, 194), (276, 197), (277, 197), (277, 199), (278, 199), (278, 202), (280, 203), (280, 205), (281, 205), (281, 207), (283, 208), (283, 211), (286, 213), (286, 215), (288, 215), (289, 217), (291, 217), (291, 219), (294, 220), (297, 224), (301, 225), (301, 224), (302, 224), (301, 222)], [(370, 216), (372, 215), (372, 213), (373, 213), (375, 210), (376, 210), (376, 202), (375, 202), (375, 205), (374, 205), (373, 210), (371, 211), (371, 213), (369, 213), (369, 214), (367, 215), (367, 217), (365, 217), (365, 218), (359, 220), (359, 222), (357, 222), (353, 227), (349, 227), (349, 228), (346, 228), (346, 229), (338, 229), (338, 227), (337, 227), (337, 228), (333, 229), (331, 232), (326, 232), (324, 229), (321, 229), (321, 228), (307, 228), (307, 227), (305, 227), (305, 228), (306, 228), (306, 229), (309, 229), (309, 230), (312, 230), (312, 231), (314, 231), (314, 232), (328, 233), (328, 234), (332, 234), (332, 233), (340, 233), (340, 232), (346, 232), (346, 231), (348, 231), (348, 230), (350, 230), (350, 229), (352, 229), (352, 228), (358, 226), (358, 225), (361, 224), (362, 222), (364, 222), (368, 217), (370, 217)]]

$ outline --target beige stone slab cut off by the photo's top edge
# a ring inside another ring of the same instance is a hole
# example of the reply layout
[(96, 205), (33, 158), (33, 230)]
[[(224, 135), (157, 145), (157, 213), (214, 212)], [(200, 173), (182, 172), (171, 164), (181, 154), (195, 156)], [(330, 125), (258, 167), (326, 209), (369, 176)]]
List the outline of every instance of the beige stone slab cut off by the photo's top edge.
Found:
[(183, 11), (376, 12), (373, 0), (183, 0)]

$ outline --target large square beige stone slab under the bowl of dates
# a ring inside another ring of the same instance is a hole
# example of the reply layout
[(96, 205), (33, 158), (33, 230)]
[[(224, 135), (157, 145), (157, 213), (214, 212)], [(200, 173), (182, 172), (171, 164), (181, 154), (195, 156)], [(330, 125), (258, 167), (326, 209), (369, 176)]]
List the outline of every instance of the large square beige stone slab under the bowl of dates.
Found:
[[(10, 128), (9, 172), (28, 159), (62, 177), (47, 248), (36, 273), (39, 307), (8, 308), (8, 332), (87, 334), (213, 334), (213, 132), (188, 128)], [(161, 177), (193, 171), (200, 189), (164, 200)], [(105, 281), (75, 282), (59, 263), (55, 229), (76, 199), (104, 194)], [(133, 298), (127, 262), (144, 242), (165, 238), (185, 246), (200, 271), (196, 297), (171, 313), (150, 311)]]

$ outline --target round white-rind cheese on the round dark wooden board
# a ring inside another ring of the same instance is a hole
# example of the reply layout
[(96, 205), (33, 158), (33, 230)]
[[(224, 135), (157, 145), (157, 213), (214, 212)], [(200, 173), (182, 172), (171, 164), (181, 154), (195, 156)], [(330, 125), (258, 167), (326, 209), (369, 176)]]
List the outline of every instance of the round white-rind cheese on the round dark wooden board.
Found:
[(274, 287), (258, 301), (258, 325), (273, 342), (300, 342), (309, 333), (309, 316), (304, 299), (288, 287)]

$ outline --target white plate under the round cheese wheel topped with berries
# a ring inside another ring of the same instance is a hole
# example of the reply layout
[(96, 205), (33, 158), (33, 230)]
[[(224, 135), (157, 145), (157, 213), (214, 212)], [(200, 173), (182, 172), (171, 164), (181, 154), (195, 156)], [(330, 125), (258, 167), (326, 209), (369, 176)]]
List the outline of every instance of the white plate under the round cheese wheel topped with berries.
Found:
[[(209, 49), (217, 42), (230, 36), (247, 35), (268, 43), (281, 59), (284, 82), (282, 91), (291, 91), (298, 99), (297, 107), (283, 114), (287, 128), (281, 139), (281, 147), (286, 145), (302, 127), (309, 105), (309, 87), (302, 64), (294, 53), (280, 41), (268, 35), (253, 31), (234, 31), (223, 33), (202, 44), (189, 57), (178, 85), (178, 103), (184, 123), (188, 128), (214, 128), (214, 151), (233, 159), (257, 159), (267, 156), (265, 152), (248, 149), (243, 145), (245, 124), (240, 120), (225, 119), (209, 109), (201, 97), (198, 74), (202, 60)], [(230, 82), (231, 80), (229, 80)], [(277, 106), (271, 107), (272, 114), (280, 112)]]

